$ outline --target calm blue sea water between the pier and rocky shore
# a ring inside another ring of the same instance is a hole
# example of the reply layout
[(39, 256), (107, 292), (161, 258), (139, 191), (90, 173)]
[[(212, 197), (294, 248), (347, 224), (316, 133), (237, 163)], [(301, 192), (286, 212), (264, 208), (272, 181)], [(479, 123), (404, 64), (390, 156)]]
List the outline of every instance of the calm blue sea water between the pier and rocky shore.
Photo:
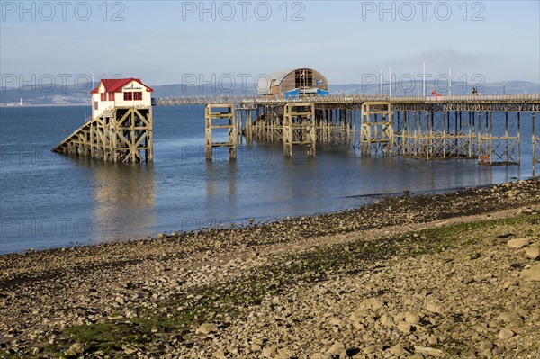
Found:
[[(295, 152), (238, 148), (204, 160), (202, 106), (154, 109), (154, 163), (104, 164), (50, 152), (90, 107), (0, 108), (0, 253), (156, 236), (249, 218), (355, 208), (380, 195), (437, 192), (532, 175), (530, 120), (522, 123), (521, 166), (474, 160), (360, 157), (349, 148)], [(528, 131), (528, 135), (527, 135)]]

